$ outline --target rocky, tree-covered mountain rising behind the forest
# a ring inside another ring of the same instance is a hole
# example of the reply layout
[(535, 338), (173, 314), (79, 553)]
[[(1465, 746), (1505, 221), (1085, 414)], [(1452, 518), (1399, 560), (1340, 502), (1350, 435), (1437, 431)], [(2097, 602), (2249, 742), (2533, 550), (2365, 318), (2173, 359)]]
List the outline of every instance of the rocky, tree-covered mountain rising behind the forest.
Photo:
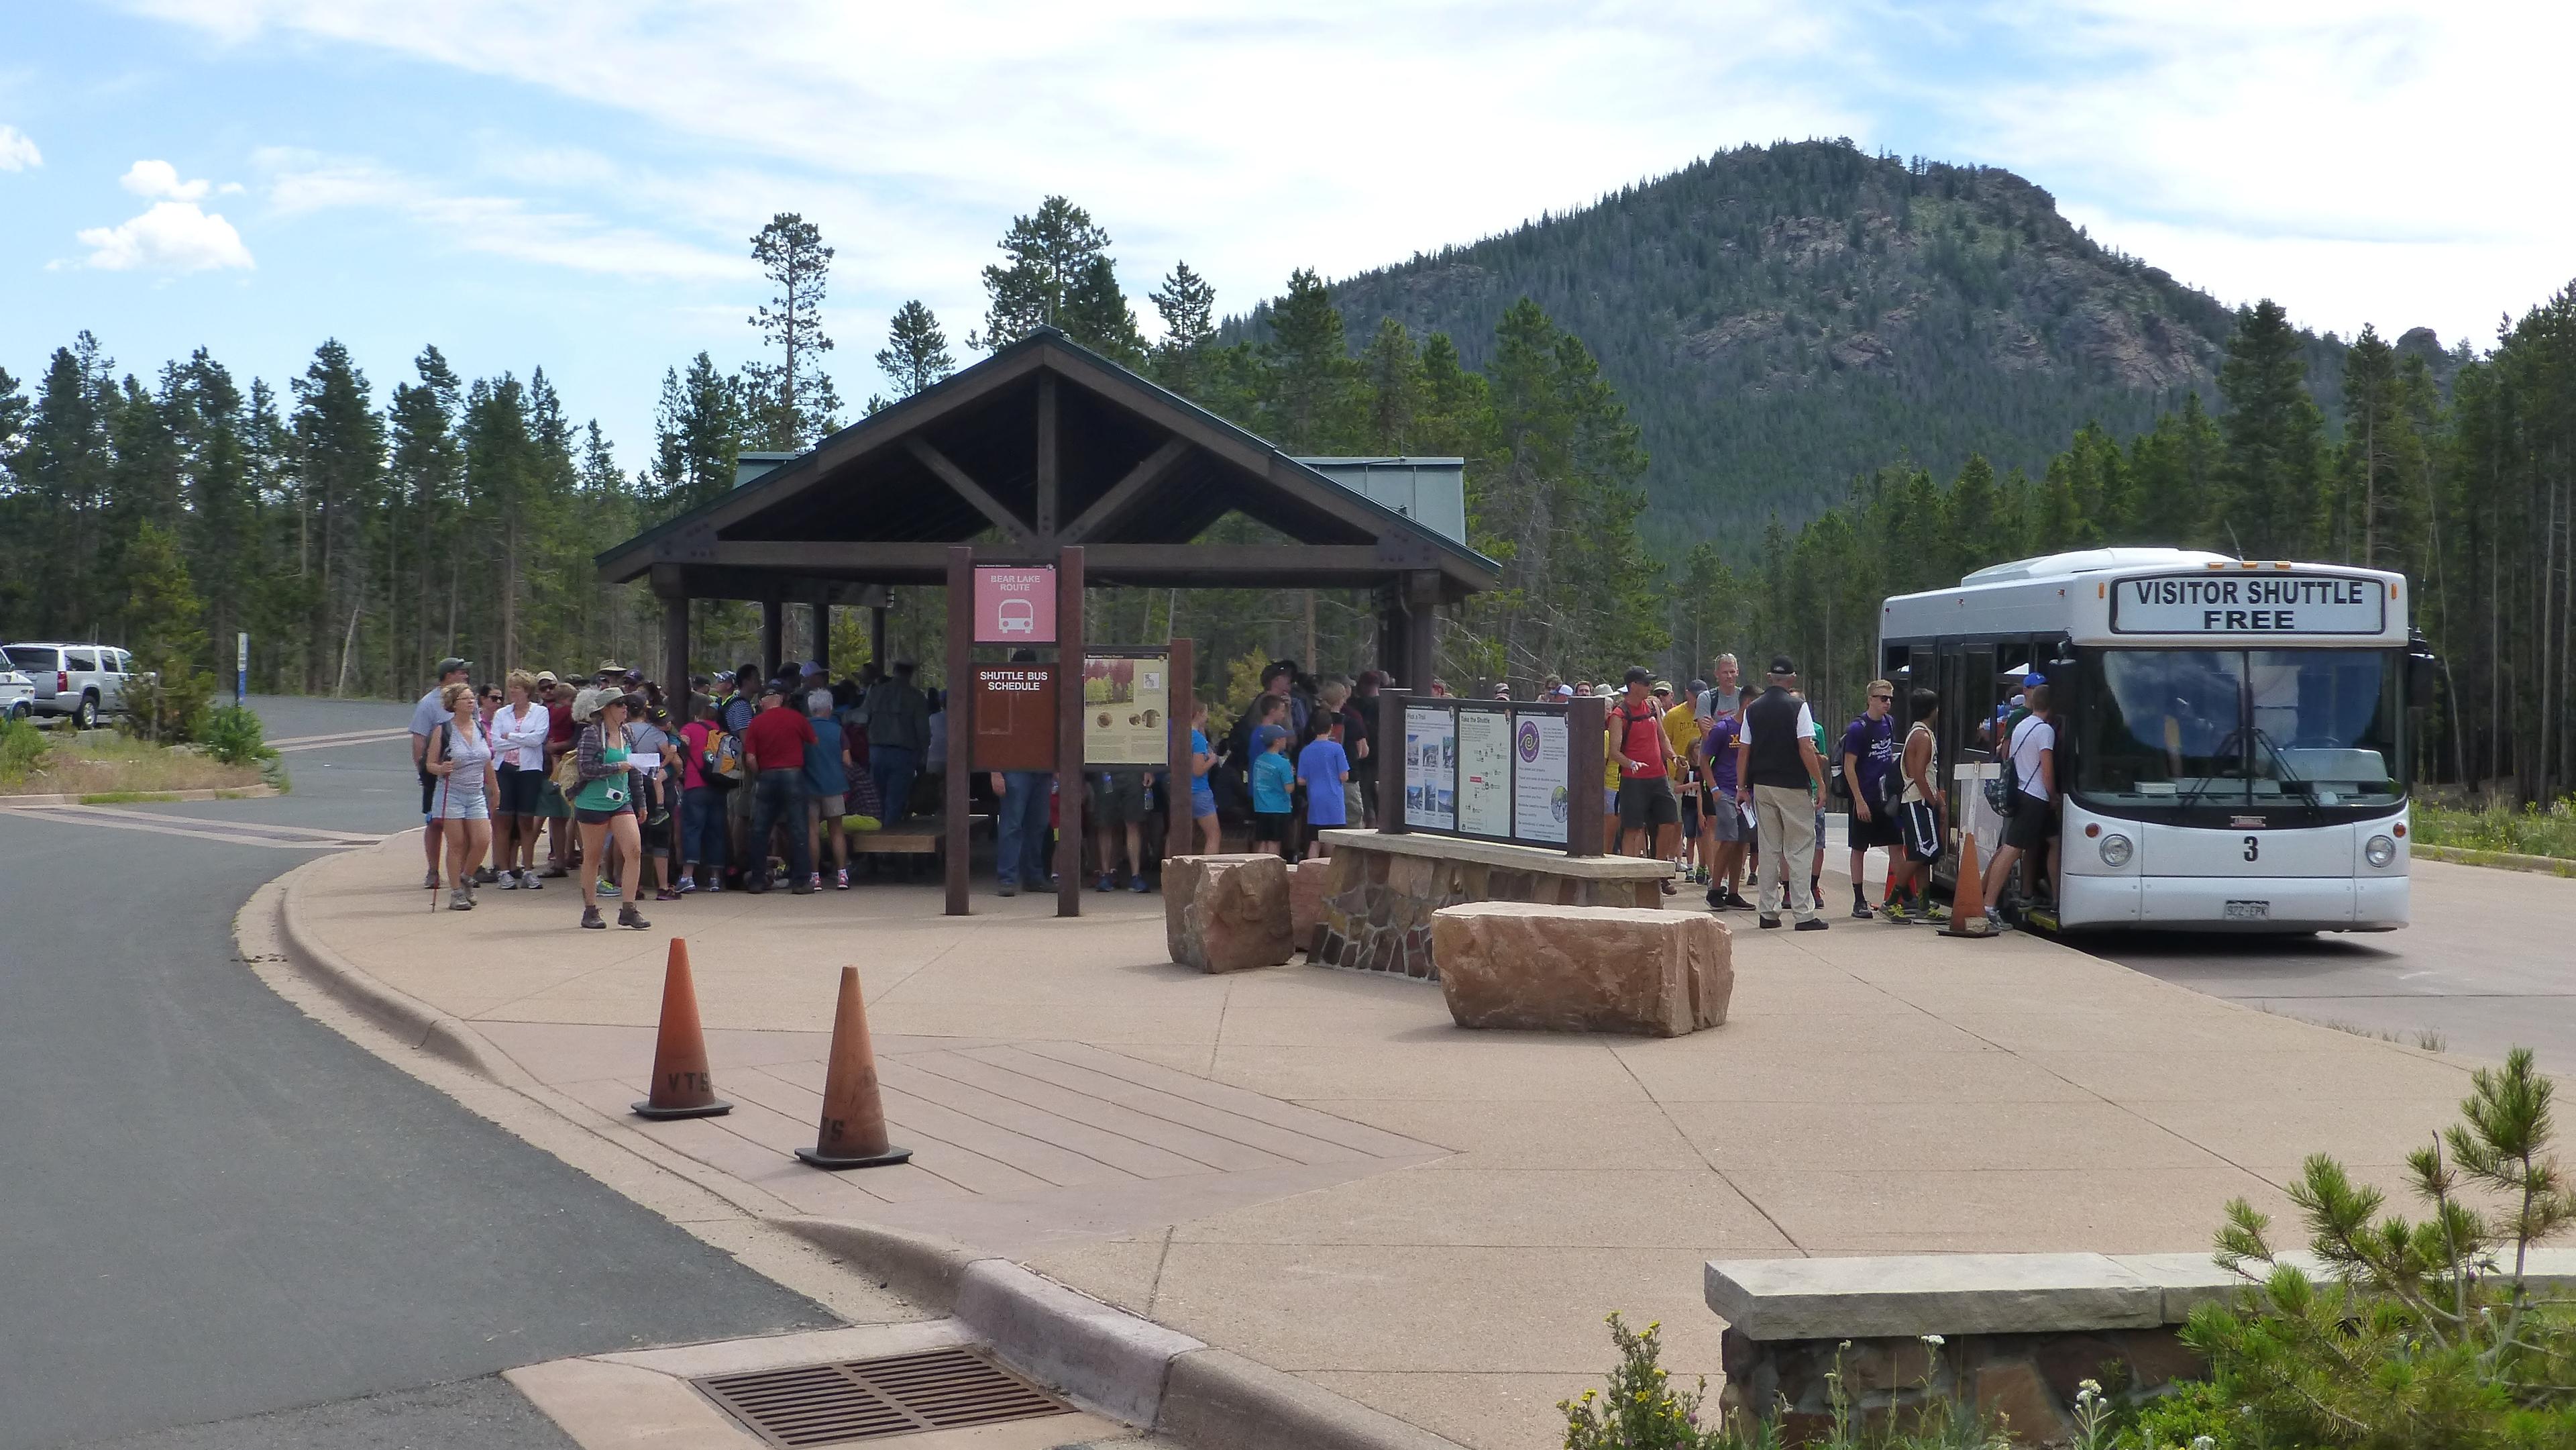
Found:
[[(1535, 301), (1636, 420), (1659, 554), (1716, 536), (1739, 559), (1770, 515), (1803, 523), (1893, 458), (2040, 471), (2079, 425), (2128, 435), (2210, 399), (2233, 327), (2007, 170), (1850, 142), (1718, 152), (1332, 296), (1352, 337), (1396, 319), (1453, 337), (1471, 368), (1502, 314)], [(1270, 330), (1262, 306), (1224, 337)], [(2458, 366), (2429, 332), (2403, 348), (2437, 376)], [(2300, 335), (2298, 363), (2339, 420), (2344, 348)]]

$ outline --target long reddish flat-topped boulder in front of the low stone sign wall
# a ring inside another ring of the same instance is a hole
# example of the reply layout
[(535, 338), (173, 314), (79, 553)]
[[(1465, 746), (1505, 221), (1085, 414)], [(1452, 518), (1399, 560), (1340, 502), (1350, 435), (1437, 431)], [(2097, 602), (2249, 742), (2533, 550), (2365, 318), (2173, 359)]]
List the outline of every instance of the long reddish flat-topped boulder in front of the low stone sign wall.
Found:
[(1703, 912), (1468, 901), (1432, 914), (1461, 1028), (1680, 1038), (1726, 1020), (1726, 922)]

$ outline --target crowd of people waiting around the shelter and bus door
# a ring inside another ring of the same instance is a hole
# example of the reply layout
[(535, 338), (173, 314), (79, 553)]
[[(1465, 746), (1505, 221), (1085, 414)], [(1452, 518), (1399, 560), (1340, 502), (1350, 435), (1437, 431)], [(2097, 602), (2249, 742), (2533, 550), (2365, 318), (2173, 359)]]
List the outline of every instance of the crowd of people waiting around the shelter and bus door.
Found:
[[(778, 675), (744, 664), (693, 675), (680, 695), (616, 662), (590, 675), (513, 670), (497, 685), (471, 675), (471, 662), (440, 659), (410, 731), (428, 824), (422, 886), (446, 889), (453, 912), (474, 909), (479, 886), (541, 891), (572, 878), (582, 927), (605, 930), (600, 904), (613, 901), (616, 925), (644, 930), (647, 896), (848, 891), (853, 832), (904, 827), (917, 806), (935, 811), (948, 767), (943, 695), (922, 690), (909, 662), (842, 680), (811, 662)], [(1203, 701), (1175, 701), (1190, 711), (1185, 791), (1157, 767), (1084, 773), (1077, 811), (1090, 811), (1097, 891), (1151, 891), (1164, 811), (1190, 811), (1198, 850), (1221, 850), (1231, 822), (1252, 850), (1288, 860), (1329, 855), (1329, 829), (1376, 824), (1376, 744), (1388, 729), (1378, 706), (1391, 680), (1376, 670), (1316, 680), (1278, 659), (1260, 685), (1221, 737), (1208, 734)], [(1450, 690), (1435, 677), (1430, 693)], [(1929, 863), (1947, 840), (1932, 690), (1899, 698), (1888, 680), (1870, 680), (1865, 711), (1839, 742), (1788, 657), (1770, 662), (1759, 690), (1741, 683), (1734, 654), (1685, 690), (1643, 667), (1620, 685), (1538, 683), (1543, 701), (1579, 693), (1602, 695), (1607, 711), (1602, 847), (1669, 860), (1667, 894), (1687, 881), (1705, 886), (1710, 909), (1754, 912), (1777, 927), (1785, 907), (1795, 930), (1826, 930), (1824, 816), (1834, 801), (1850, 816), (1852, 917), (1906, 925), (1947, 914), (1927, 899)], [(1510, 688), (1497, 685), (1494, 698)], [(1989, 796), (2004, 837), (1984, 896), (1994, 901), (2014, 871), (2043, 896), (2056, 822), (2048, 683), (2022, 680), (1976, 739), (2009, 760), (2007, 786)], [(999, 894), (1056, 886), (1054, 840), (1066, 829), (1056, 775), (997, 770), (984, 783)], [(2035, 806), (2014, 809), (2025, 801)], [(1888, 852), (1875, 904), (1870, 850)], [(868, 876), (878, 858), (860, 860)], [(1747, 881), (1757, 899), (1744, 896)]]

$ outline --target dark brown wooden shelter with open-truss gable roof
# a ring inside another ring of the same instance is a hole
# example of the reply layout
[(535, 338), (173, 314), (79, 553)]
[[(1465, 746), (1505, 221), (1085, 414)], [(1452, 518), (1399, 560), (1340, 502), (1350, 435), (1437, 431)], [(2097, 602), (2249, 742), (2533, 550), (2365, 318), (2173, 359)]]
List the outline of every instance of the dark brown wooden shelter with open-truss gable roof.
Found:
[[(1226, 515), (1257, 520), (1273, 538), (1203, 543)], [(969, 659), (966, 569), (1048, 564), (1059, 577), (1059, 644), (1077, 662), (1087, 585), (1370, 590), (1381, 667), (1422, 685), (1437, 610), (1499, 582), (1499, 567), (1466, 543), (1054, 327), (750, 474), (598, 564), (608, 582), (649, 579), (662, 600), (670, 683), (688, 677), (690, 600), (757, 600), (762, 667), (775, 672), (788, 605), (814, 610), (817, 641), (829, 636), (832, 605), (878, 608), (884, 654), (884, 587), (951, 585), (956, 688)], [(1066, 690), (1069, 726), (1077, 703), (1079, 690)], [(961, 739), (963, 721), (951, 719), (951, 742)], [(1079, 731), (1069, 739), (1079, 752)], [(1077, 770), (1079, 760), (1059, 760), (1066, 801), (1082, 798)], [(951, 775), (961, 816), (963, 770)], [(958, 840), (963, 827), (951, 832)], [(1079, 871), (1061, 876), (1074, 891)], [(963, 909), (963, 852), (951, 852), (951, 907)]]

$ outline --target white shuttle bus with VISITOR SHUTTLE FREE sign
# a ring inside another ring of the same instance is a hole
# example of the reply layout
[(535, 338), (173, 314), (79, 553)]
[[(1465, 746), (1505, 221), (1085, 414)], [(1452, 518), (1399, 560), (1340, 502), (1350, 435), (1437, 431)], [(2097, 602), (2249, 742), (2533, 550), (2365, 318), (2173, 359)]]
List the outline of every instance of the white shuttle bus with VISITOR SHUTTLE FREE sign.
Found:
[[(2406, 788), (2432, 654), (2406, 579), (2184, 549), (2089, 549), (1891, 598), (1880, 664), (1940, 693), (1950, 878), (1994, 860), (1994, 719), (2025, 672), (2058, 719), (2066, 930), (2385, 932), (2406, 925)], [(2048, 917), (2040, 917), (2048, 925)]]

